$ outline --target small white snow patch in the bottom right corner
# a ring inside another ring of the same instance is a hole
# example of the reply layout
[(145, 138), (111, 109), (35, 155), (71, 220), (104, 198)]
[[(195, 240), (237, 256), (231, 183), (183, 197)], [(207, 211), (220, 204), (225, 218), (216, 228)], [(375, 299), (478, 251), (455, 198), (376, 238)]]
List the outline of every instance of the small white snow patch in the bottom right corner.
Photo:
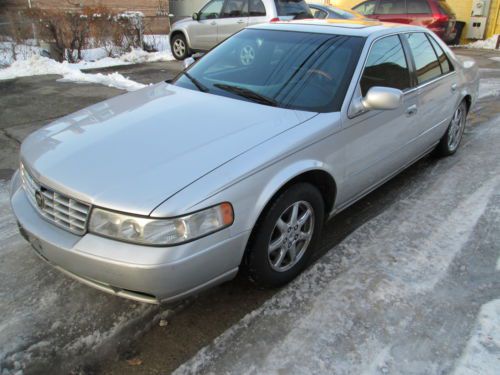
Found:
[(481, 307), (476, 327), (454, 375), (498, 375), (500, 372), (500, 299)]

